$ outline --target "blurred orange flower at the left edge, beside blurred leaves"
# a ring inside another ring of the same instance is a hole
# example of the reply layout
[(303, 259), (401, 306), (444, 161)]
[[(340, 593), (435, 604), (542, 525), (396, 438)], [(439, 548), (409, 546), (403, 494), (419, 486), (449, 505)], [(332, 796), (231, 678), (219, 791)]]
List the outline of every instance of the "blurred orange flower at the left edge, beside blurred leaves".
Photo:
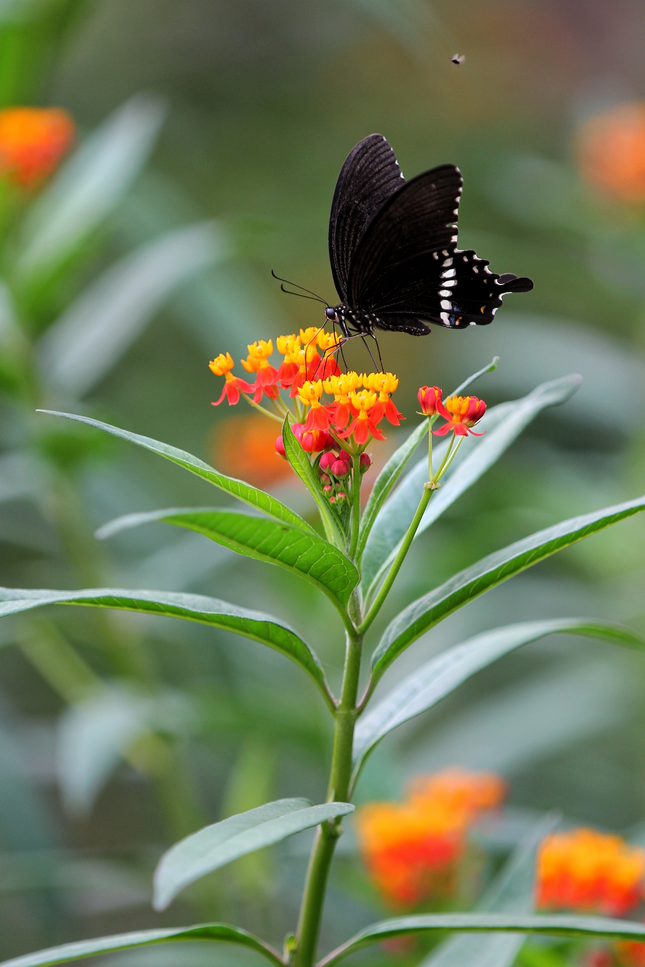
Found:
[(58, 107), (0, 111), (0, 173), (23, 188), (51, 174), (70, 148), (74, 123)]

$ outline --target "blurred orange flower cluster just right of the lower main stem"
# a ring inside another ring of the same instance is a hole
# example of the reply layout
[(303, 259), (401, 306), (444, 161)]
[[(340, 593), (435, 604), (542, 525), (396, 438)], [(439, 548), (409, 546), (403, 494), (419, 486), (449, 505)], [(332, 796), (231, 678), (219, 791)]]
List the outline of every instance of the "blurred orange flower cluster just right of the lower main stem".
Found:
[(361, 853), (383, 899), (411, 907), (454, 893), (468, 827), (505, 792), (497, 776), (451, 769), (414, 779), (402, 804), (358, 809)]

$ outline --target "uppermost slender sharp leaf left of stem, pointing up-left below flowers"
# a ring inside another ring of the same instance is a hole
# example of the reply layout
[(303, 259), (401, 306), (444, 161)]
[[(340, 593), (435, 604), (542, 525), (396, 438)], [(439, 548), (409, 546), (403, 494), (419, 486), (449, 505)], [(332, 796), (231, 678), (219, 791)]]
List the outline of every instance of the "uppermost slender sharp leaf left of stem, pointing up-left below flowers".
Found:
[(303, 520), (299, 514), (292, 511), (291, 508), (281, 503), (281, 501), (276, 500), (275, 497), (271, 497), (270, 494), (265, 493), (264, 490), (259, 490), (257, 487), (246, 484), (244, 481), (238, 481), (235, 477), (226, 477), (224, 474), (220, 474), (219, 471), (210, 467), (204, 460), (200, 460), (199, 457), (193, 456), (192, 454), (187, 454), (184, 450), (178, 450), (177, 447), (170, 447), (167, 443), (159, 443), (158, 440), (153, 440), (150, 436), (130, 433), (128, 430), (121, 429), (119, 426), (111, 426), (110, 424), (101, 423), (100, 420), (92, 420), (90, 417), (79, 417), (73, 413), (59, 413), (56, 410), (39, 410), (38, 412), (46, 413), (53, 417), (64, 417), (66, 420), (76, 420), (78, 423), (96, 426), (97, 429), (104, 429), (106, 433), (111, 433), (112, 436), (118, 436), (120, 439), (127, 440), (129, 443), (135, 443), (137, 447), (143, 447), (145, 450), (150, 450), (154, 454), (165, 456), (167, 460), (172, 460), (173, 463), (179, 464), (185, 470), (197, 474), (198, 477), (208, 481), (209, 484), (213, 484), (219, 487), (220, 490), (224, 490), (233, 497), (237, 497), (238, 500), (243, 501), (245, 504), (250, 504), (251, 507), (256, 507), (259, 511), (267, 513), (269, 517), (275, 517), (276, 520), (284, 520), (285, 523), (293, 524), (294, 527), (300, 527), (302, 530), (311, 534), (316, 533), (313, 527), (310, 527), (307, 521)]

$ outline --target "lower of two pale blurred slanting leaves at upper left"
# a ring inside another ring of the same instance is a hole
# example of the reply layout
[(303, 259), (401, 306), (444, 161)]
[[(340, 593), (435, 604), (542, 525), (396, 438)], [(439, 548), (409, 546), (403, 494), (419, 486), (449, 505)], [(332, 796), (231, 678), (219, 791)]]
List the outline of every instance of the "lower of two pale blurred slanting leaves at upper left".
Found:
[(224, 235), (207, 221), (167, 232), (93, 281), (37, 346), (43, 379), (84, 396), (124, 355), (168, 297), (226, 257)]

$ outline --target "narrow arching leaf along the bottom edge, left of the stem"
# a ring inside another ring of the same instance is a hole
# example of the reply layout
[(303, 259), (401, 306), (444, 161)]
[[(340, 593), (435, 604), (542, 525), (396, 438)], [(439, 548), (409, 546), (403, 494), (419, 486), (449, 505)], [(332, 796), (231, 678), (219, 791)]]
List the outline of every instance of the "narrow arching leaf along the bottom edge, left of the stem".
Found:
[(225, 944), (250, 947), (252, 951), (262, 953), (277, 967), (284, 967), (284, 960), (272, 947), (252, 933), (247, 933), (237, 926), (229, 926), (227, 923), (200, 923), (198, 926), (176, 926), (161, 930), (135, 930), (133, 933), (116, 933), (112, 937), (79, 940), (72, 944), (63, 944), (62, 947), (50, 947), (46, 951), (13, 957), (11, 960), (5, 960), (0, 967), (48, 967), (50, 964), (64, 964), (69, 960), (92, 957), (97, 953), (127, 951), (133, 947), (150, 947), (152, 944), (186, 940), (219, 940)]

